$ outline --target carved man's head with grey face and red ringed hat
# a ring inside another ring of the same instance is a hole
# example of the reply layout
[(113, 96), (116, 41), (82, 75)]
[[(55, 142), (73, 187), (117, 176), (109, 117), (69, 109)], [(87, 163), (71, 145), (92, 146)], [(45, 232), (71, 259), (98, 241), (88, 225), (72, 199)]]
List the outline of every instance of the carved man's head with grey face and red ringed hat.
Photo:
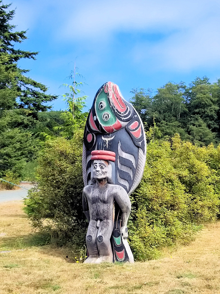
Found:
[(91, 152), (91, 182), (99, 182), (104, 179), (110, 184), (115, 183), (115, 153), (105, 150)]

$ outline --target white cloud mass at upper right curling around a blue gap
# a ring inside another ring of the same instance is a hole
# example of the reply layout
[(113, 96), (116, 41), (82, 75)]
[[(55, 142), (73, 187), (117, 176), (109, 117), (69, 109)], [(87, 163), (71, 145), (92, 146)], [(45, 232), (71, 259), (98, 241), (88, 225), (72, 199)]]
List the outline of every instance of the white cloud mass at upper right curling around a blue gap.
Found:
[[(220, 63), (220, 1), (81, 1), (62, 28), (62, 37), (108, 47), (117, 33), (164, 34), (162, 40), (139, 39), (131, 53), (136, 64), (190, 71)], [(94, 50), (95, 46), (94, 46)], [(129, 50), (129, 49), (128, 49)]]

